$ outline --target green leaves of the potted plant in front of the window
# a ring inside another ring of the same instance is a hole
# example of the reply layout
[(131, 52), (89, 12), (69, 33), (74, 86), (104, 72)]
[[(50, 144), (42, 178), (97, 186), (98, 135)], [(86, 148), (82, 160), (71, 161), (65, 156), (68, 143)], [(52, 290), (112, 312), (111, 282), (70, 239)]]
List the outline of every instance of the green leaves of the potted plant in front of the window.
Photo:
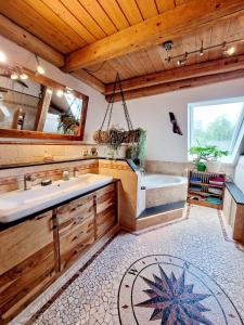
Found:
[(190, 153), (196, 157), (193, 159), (195, 164), (200, 161), (217, 160), (223, 156), (228, 156), (228, 151), (221, 151), (217, 145), (192, 146)]

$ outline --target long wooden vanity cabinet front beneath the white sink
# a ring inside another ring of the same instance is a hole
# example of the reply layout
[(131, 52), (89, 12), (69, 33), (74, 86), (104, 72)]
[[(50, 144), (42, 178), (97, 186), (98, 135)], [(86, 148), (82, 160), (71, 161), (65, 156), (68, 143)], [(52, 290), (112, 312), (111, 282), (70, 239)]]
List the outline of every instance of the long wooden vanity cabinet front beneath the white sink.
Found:
[(117, 181), (1, 224), (0, 324), (7, 324), (118, 222)]

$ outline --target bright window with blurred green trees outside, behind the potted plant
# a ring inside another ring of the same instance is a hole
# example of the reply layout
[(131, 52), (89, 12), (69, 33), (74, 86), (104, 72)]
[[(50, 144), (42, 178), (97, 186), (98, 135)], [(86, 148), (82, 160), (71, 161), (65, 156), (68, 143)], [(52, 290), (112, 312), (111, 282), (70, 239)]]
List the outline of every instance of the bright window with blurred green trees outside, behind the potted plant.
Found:
[(243, 98), (190, 104), (189, 148), (197, 145), (217, 145), (233, 156), (240, 133), (243, 131)]

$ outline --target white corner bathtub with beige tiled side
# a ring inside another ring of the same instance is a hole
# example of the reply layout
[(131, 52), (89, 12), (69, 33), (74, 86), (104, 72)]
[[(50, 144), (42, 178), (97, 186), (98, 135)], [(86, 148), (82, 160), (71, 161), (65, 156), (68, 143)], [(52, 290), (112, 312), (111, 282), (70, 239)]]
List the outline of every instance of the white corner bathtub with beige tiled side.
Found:
[(145, 208), (187, 199), (188, 179), (181, 176), (145, 173), (141, 184), (145, 187)]

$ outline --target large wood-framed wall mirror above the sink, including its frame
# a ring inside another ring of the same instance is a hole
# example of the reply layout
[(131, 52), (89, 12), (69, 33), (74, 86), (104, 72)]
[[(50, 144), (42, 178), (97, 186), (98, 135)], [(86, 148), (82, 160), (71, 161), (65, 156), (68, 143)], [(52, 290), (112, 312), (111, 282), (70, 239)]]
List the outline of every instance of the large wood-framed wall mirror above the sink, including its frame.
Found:
[(43, 75), (0, 68), (0, 136), (80, 141), (87, 108), (87, 95)]

